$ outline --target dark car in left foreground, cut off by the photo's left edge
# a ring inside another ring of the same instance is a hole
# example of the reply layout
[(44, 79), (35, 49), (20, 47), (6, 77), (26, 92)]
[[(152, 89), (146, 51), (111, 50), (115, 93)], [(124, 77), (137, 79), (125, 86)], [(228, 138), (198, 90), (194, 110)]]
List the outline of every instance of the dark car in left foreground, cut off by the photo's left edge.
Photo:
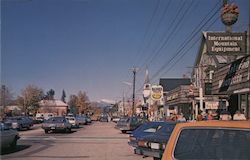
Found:
[(18, 132), (4, 123), (0, 123), (1, 148), (15, 148), (20, 138)]

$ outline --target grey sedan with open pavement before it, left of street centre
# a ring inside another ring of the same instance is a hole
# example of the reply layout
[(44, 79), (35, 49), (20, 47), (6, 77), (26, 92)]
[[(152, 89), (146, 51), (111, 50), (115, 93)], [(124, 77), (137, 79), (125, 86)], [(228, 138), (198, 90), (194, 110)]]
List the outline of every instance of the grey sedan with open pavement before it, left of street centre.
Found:
[(42, 124), (45, 133), (49, 131), (71, 132), (71, 124), (65, 117), (51, 117)]

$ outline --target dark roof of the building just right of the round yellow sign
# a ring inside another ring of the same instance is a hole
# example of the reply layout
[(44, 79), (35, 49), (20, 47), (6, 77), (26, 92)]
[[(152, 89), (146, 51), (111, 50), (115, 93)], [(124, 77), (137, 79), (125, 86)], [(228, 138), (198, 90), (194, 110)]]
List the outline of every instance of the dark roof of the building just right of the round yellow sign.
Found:
[(181, 85), (190, 84), (190, 78), (160, 78), (160, 85), (163, 87), (163, 92), (171, 91)]

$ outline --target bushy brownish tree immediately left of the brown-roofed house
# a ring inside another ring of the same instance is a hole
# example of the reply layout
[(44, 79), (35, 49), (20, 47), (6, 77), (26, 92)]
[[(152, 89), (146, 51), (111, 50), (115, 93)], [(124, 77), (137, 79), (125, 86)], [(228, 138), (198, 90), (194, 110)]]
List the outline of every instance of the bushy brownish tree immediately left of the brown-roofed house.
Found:
[(21, 95), (17, 97), (17, 103), (23, 106), (25, 115), (32, 112), (35, 114), (39, 107), (39, 102), (43, 99), (44, 92), (41, 88), (28, 85), (21, 91)]

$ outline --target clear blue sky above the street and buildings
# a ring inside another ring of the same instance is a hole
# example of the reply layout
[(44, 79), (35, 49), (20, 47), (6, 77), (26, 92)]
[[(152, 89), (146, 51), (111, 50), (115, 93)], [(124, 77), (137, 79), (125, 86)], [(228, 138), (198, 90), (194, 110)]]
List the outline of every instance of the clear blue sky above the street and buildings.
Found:
[[(229, 2), (240, 9), (233, 30), (247, 30), (249, 1)], [(139, 67), (137, 90), (142, 86), (146, 66), (150, 76), (156, 75), (150, 77), (152, 83), (162, 77), (189, 75), (201, 31), (225, 30), (217, 18), (219, 12), (189, 40), (183, 58), (166, 63), (221, 3), (222, 0), (2, 0), (2, 84), (14, 95), (33, 84), (45, 92), (54, 89), (56, 98), (64, 89), (67, 96), (85, 91), (91, 101), (120, 100), (123, 92), (131, 96), (131, 86), (123, 81), (132, 82), (129, 69), (133, 66)]]

